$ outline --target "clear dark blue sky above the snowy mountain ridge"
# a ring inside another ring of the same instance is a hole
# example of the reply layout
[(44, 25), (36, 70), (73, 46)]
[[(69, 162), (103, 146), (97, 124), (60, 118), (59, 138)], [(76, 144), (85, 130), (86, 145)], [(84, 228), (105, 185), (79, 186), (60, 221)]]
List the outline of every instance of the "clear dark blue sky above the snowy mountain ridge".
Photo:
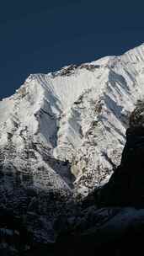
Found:
[(30, 73), (119, 55), (144, 42), (143, 1), (2, 0), (0, 99)]

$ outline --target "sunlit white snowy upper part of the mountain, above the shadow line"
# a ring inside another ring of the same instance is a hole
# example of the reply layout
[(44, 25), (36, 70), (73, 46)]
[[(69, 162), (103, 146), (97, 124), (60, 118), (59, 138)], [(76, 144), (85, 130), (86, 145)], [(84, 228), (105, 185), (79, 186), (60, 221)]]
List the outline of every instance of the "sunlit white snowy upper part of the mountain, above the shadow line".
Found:
[(68, 185), (72, 185), (67, 165), (71, 163), (75, 184), (79, 189), (85, 186), (87, 193), (120, 162), (127, 117), (143, 96), (143, 83), (144, 45), (123, 56), (30, 75), (0, 103), (1, 148), (14, 148), (16, 165), (26, 147), (39, 159), (37, 165), (44, 160), (50, 168), (44, 158), (59, 159), (60, 168), (50, 168), (51, 172)]

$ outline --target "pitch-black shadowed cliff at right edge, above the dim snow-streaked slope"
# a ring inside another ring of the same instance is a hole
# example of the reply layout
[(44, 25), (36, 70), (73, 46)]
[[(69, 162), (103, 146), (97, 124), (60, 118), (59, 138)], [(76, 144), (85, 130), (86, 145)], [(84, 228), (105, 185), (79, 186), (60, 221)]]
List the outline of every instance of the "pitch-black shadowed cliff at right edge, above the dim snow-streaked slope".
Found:
[(144, 127), (129, 128), (121, 163), (99, 190), (99, 206), (144, 208)]

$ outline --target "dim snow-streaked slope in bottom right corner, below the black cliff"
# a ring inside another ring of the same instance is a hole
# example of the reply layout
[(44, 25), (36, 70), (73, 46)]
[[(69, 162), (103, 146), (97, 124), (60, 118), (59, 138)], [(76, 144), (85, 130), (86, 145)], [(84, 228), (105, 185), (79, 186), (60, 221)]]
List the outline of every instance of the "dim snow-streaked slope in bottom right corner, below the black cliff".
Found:
[[(82, 211), (83, 207), (81, 208)], [(70, 228), (70, 227), (69, 227)], [(56, 243), (35, 244), (23, 255), (129, 255), (141, 253), (144, 209), (89, 206), (75, 218), (73, 227), (59, 234)]]

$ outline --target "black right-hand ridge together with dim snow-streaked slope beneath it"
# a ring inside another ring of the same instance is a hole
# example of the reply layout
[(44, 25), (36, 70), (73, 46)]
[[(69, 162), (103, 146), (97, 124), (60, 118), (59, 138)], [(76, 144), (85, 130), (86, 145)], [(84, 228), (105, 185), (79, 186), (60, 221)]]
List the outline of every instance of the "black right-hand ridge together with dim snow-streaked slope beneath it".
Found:
[(104, 187), (83, 202), (87, 205), (95, 200), (97, 209), (94, 211), (89, 206), (79, 227), (77, 225), (71, 235), (67, 233), (59, 237), (57, 248), (65, 248), (64, 244), (68, 244), (64, 255), (141, 253), (144, 237), (143, 156), (144, 127), (131, 126), (126, 131), (120, 166)]

